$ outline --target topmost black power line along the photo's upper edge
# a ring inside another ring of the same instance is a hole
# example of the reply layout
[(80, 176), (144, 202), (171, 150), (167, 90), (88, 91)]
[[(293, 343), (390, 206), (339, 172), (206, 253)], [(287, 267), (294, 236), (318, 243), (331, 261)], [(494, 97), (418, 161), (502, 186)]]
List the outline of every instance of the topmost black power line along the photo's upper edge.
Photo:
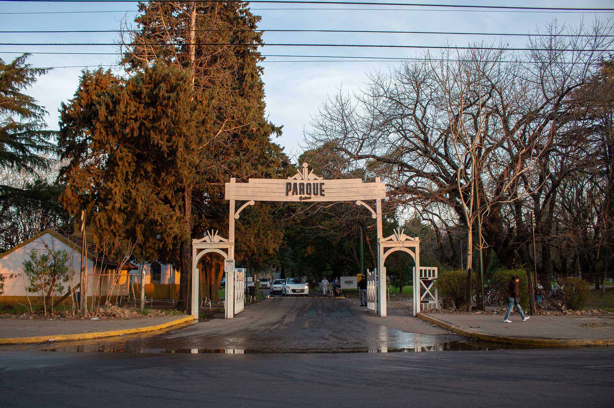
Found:
[[(158, 0), (159, 2), (174, 2), (176, 0)], [(0, 0), (0, 2), (51, 2), (51, 3), (125, 3), (134, 0)], [(186, 0), (194, 3), (222, 3), (226, 0)], [(237, 1), (239, 2), (239, 1)], [(527, 7), (527, 6), (483, 6), (473, 4), (429, 4), (429, 3), (384, 3), (363, 1), (301, 1), (301, 0), (253, 0), (251, 3), (266, 4), (352, 4), (357, 6), (411, 6), (411, 7), (451, 7), (455, 9), (504, 9), (504, 10), (561, 10), (561, 11), (614, 11), (612, 8), (591, 7)]]

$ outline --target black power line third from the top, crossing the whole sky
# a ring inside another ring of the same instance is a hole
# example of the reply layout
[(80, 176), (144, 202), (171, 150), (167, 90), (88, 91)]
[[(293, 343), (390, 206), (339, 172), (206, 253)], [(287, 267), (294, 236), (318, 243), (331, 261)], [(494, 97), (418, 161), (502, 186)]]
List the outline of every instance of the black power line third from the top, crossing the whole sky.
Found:
[[(147, 31), (154, 31), (153, 29)], [(160, 33), (168, 33), (174, 30), (156, 30)], [(255, 33), (366, 33), (366, 34), (445, 34), (445, 35), (460, 35), (460, 36), (519, 36), (519, 37), (614, 37), (614, 34), (521, 34), (521, 33), (463, 33), (456, 31), (382, 31), (382, 30), (334, 30), (334, 29), (194, 29), (187, 30), (187, 32), (255, 32)], [(108, 29), (108, 30), (33, 30), (33, 31), (0, 31), (4, 34), (43, 34), (43, 33), (141, 33), (142, 30), (122, 30), (122, 29)]]

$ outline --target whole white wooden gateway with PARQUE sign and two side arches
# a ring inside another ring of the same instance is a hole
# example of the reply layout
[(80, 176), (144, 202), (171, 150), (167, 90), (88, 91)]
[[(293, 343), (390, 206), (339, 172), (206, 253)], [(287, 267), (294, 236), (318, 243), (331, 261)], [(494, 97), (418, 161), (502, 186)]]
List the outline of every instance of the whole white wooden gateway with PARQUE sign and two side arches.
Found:
[[(419, 276), (417, 276), (416, 271), (424, 269), (419, 268), (420, 240), (418, 237), (408, 237), (402, 231), (395, 231), (395, 234), (387, 238), (382, 236), (381, 206), (382, 199), (386, 198), (386, 187), (379, 177), (376, 177), (374, 183), (364, 183), (362, 179), (323, 180), (322, 177), (313, 174), (313, 171), (309, 171), (307, 163), (303, 163), (303, 169), (287, 179), (249, 179), (247, 183), (237, 183), (236, 179), (230, 179), (230, 183), (226, 183), (225, 186), (225, 196), (230, 201), (228, 239), (222, 238), (217, 235), (217, 232), (211, 231), (202, 239), (192, 240), (192, 315), (194, 318), (198, 318), (199, 300), (199, 277), (196, 265), (205, 253), (216, 252), (222, 255), (227, 265), (225, 271), (231, 274), (232, 279), (227, 279), (227, 288), (231, 283), (233, 293), (229, 293), (229, 291), (226, 293), (226, 317), (232, 318), (239, 311), (234, 306), (237, 302), (243, 304), (243, 293), (238, 293), (242, 292), (241, 288), (232, 284), (237, 282), (234, 268), (235, 220), (239, 219), (241, 211), (247, 206), (253, 206), (255, 201), (353, 201), (356, 202), (357, 206), (368, 209), (371, 212), (371, 217), (376, 220), (378, 234), (378, 265), (376, 271), (379, 271), (379, 273), (368, 273), (368, 279), (372, 282), (373, 288), (370, 291), (373, 298), (369, 299), (369, 307), (375, 310), (379, 316), (386, 317), (386, 268), (384, 268), (384, 261), (390, 253), (400, 250), (410, 253), (416, 263), (414, 269), (414, 315), (418, 312), (421, 296), (416, 296), (420, 293)], [(375, 210), (365, 203), (365, 201), (371, 200), (375, 200)], [(246, 201), (239, 207), (238, 211), (235, 211), (236, 201)], [(241, 286), (243, 286), (242, 281)], [(235, 302), (232, 301), (233, 299)], [(241, 307), (241, 309), (243, 308)]]

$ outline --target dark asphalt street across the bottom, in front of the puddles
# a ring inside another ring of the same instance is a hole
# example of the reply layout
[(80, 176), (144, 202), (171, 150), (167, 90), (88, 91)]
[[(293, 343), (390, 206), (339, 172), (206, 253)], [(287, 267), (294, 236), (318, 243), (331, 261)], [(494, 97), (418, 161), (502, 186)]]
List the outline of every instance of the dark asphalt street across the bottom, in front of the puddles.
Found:
[(9, 407), (612, 407), (614, 350), (0, 352)]

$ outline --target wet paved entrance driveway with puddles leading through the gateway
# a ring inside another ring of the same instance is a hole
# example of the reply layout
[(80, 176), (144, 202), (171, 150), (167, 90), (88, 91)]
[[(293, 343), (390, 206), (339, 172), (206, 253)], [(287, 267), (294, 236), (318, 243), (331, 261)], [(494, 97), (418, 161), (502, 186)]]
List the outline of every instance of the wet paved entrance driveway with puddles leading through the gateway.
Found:
[[(405, 314), (404, 316), (400, 314)], [(433, 327), (410, 312), (391, 310), (389, 318), (373, 316), (353, 299), (266, 299), (246, 304), (231, 320), (214, 318), (161, 334), (136, 334), (51, 345), (4, 347), (9, 350), (60, 351), (107, 350), (121, 352), (338, 352), (378, 351), (400, 348), (476, 349), (465, 337)], [(363, 317), (364, 316), (364, 317)], [(1, 348), (0, 348), (1, 349)]]

